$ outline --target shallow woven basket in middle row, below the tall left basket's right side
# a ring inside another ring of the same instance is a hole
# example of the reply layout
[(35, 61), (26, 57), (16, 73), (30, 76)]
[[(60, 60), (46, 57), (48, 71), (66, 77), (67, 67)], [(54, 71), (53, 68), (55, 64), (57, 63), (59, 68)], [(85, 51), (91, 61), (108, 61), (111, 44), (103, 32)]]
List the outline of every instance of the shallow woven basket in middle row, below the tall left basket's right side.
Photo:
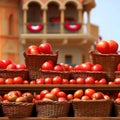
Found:
[(39, 77), (46, 78), (46, 77), (55, 77), (55, 76), (61, 76), (65, 79), (70, 79), (70, 71), (50, 71), (50, 70), (39, 70)]

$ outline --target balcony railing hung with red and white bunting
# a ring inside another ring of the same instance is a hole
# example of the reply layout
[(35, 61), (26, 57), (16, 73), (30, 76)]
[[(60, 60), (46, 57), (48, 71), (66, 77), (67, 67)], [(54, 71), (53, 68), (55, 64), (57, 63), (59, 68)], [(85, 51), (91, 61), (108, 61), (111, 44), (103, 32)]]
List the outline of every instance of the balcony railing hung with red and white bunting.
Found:
[(93, 24), (48, 22), (27, 23), (21, 28), (22, 34), (91, 34), (98, 37), (98, 26)]

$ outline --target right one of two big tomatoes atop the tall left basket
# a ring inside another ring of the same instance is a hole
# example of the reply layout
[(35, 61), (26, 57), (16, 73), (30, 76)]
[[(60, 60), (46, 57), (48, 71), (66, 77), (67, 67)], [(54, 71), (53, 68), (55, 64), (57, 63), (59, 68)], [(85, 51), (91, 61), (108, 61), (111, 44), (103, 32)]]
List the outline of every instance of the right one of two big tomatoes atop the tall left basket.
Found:
[(45, 54), (52, 54), (52, 46), (50, 43), (42, 43), (39, 45), (39, 51), (40, 53), (45, 53)]

